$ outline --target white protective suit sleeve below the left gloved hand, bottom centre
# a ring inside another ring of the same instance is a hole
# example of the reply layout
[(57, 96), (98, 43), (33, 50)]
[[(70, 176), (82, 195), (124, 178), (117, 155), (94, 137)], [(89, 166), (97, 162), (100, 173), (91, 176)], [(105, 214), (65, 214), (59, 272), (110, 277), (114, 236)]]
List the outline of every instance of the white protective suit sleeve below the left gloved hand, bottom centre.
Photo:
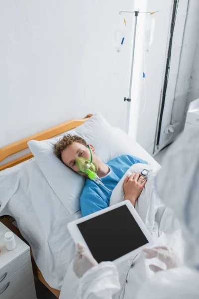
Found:
[(120, 290), (118, 273), (111, 262), (102, 262), (91, 268), (80, 279), (79, 299), (112, 299)]

